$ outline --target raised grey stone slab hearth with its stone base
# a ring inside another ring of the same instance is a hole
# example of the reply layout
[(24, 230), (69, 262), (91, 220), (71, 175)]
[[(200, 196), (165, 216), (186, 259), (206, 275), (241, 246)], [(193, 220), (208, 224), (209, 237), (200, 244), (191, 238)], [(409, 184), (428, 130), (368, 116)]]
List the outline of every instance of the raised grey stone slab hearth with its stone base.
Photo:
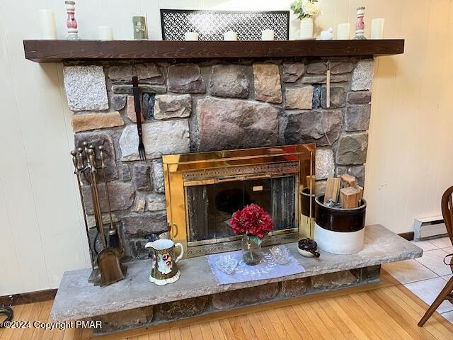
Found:
[(357, 254), (320, 251), (319, 259), (304, 258), (297, 244), (287, 244), (306, 271), (272, 280), (217, 285), (205, 256), (181, 260), (180, 279), (164, 286), (149, 282), (151, 261), (128, 263), (125, 280), (104, 288), (88, 283), (90, 269), (67, 272), (51, 316), (55, 321), (101, 320), (103, 327), (95, 334), (103, 334), (375, 283), (381, 264), (422, 255), (422, 249), (382, 225), (365, 228), (365, 246)]

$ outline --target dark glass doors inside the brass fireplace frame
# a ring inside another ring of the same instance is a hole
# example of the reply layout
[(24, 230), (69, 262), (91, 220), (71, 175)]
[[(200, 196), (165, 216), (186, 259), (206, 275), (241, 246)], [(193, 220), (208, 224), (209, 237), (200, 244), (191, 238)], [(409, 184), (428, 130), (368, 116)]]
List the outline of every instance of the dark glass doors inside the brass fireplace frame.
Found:
[(188, 246), (239, 239), (230, 219), (255, 203), (272, 217), (272, 234), (297, 231), (297, 176), (233, 179), (185, 187)]

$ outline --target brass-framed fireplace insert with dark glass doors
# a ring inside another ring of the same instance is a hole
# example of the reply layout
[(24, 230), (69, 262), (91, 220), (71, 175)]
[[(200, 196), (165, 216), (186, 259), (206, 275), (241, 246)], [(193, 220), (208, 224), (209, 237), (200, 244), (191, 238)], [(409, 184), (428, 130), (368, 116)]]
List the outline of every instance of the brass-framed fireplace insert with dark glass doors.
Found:
[[(299, 193), (314, 175), (316, 146), (176, 154), (163, 157), (168, 227), (188, 257), (240, 249), (231, 215), (255, 203), (274, 221), (265, 245), (309, 237)], [(310, 209), (309, 209), (310, 210)]]

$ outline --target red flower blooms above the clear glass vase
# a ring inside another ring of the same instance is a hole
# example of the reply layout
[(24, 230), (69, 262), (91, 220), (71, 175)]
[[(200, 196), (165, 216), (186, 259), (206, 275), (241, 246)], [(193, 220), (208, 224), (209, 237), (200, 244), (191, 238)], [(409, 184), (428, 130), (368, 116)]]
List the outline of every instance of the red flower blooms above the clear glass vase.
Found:
[(247, 234), (260, 239), (271, 232), (274, 227), (269, 214), (256, 204), (246, 205), (242, 210), (234, 212), (230, 222), (234, 234)]

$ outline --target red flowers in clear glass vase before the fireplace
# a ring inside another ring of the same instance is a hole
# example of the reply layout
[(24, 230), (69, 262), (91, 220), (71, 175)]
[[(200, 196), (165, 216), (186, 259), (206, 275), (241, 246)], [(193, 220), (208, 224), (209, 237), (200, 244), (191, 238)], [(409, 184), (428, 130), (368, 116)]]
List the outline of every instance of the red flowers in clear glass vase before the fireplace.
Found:
[(234, 234), (243, 235), (243, 260), (251, 265), (260, 263), (261, 242), (274, 227), (272, 218), (259, 205), (251, 204), (234, 212), (230, 223)]

